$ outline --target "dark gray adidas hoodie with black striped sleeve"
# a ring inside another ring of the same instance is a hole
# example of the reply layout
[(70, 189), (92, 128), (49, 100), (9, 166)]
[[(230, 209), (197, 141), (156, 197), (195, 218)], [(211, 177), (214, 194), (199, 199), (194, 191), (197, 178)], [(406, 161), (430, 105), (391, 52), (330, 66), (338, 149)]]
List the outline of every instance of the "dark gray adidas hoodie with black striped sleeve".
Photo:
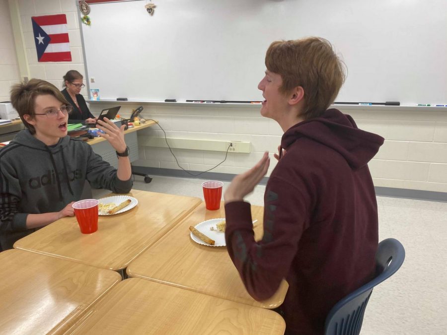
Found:
[(28, 214), (56, 212), (78, 201), (85, 180), (91, 187), (128, 193), (132, 179), (121, 181), (116, 169), (91, 146), (65, 136), (48, 146), (28, 130), (0, 149), (0, 246), (12, 248), (26, 229)]

